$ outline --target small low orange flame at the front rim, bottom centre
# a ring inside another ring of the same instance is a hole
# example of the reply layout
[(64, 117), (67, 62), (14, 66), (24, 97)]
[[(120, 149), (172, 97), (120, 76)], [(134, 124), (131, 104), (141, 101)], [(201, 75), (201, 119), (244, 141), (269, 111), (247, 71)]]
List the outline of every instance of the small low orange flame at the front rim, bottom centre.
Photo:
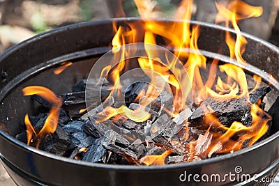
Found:
[(172, 153), (171, 150), (166, 150), (161, 155), (146, 155), (140, 159), (140, 162), (146, 165), (164, 165), (165, 158)]

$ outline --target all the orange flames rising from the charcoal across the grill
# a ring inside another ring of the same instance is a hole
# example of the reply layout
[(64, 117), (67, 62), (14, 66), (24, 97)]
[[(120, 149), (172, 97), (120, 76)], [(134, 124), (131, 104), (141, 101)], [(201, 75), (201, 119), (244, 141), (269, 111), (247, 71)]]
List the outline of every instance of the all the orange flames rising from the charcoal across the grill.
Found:
[[(218, 65), (219, 61), (217, 59), (213, 59), (208, 66), (209, 60), (199, 51), (199, 26), (191, 27), (189, 22), (193, 11), (193, 0), (183, 0), (181, 2), (174, 18), (183, 20), (182, 22), (162, 23), (152, 20), (154, 17), (158, 17), (155, 1), (135, 0), (135, 4), (143, 19), (143, 28), (138, 29), (135, 23), (130, 23), (128, 26), (113, 24), (115, 31), (112, 39), (113, 60), (117, 59), (119, 63), (115, 65), (115, 61), (112, 60), (111, 65), (103, 68), (98, 84), (102, 78), (106, 77), (113, 84), (112, 92), (106, 100), (112, 97), (119, 98), (124, 87), (121, 84), (121, 75), (129, 70), (129, 62), (132, 60), (129, 59), (129, 56), (133, 56), (131, 53), (135, 52), (127, 44), (144, 41), (146, 55), (137, 56), (135, 61), (144, 75), (149, 78), (149, 86), (146, 90), (140, 91), (134, 100), (134, 102), (140, 104), (140, 107), (130, 109), (126, 104), (119, 107), (109, 105), (103, 111), (97, 113), (99, 116), (96, 119), (97, 124), (107, 120), (116, 121), (119, 118), (130, 119), (137, 123), (149, 120), (151, 114), (146, 108), (164, 90), (173, 95), (172, 108), (163, 107), (163, 110), (171, 118), (176, 117), (186, 109), (192, 108), (192, 103), (186, 103), (188, 100), (193, 100), (195, 105), (199, 105), (207, 98), (215, 98), (220, 102), (231, 99), (245, 99), (250, 106), (251, 116), (251, 121), (247, 125), (240, 121), (233, 121), (229, 126), (225, 126), (214, 116), (214, 109), (207, 107), (205, 109), (209, 110), (210, 114), (207, 114), (203, 121), (206, 125), (206, 131), (200, 134), (195, 141), (188, 142), (190, 134), (186, 119), (181, 141), (172, 141), (172, 144), (179, 144), (186, 149), (185, 160), (188, 160), (188, 162), (211, 157), (213, 153), (230, 153), (255, 144), (269, 129), (268, 123), (271, 121), (271, 116), (259, 107), (260, 100), (256, 104), (249, 101), (250, 93), (259, 87), (262, 79), (254, 76), (255, 87), (250, 91), (246, 73), (239, 66), (230, 63)], [(226, 32), (225, 41), (230, 52), (230, 58), (239, 64), (247, 63), (242, 56), (246, 49), (247, 40), (241, 34), (237, 23), (249, 17), (259, 17), (262, 15), (262, 8), (250, 6), (240, 0), (229, 1), (227, 6), (216, 2), (216, 8), (218, 9), (216, 23), (225, 22), (225, 26), (232, 26), (236, 33), (236, 37), (233, 37), (229, 31)], [(164, 40), (165, 48), (171, 50), (170, 53), (174, 54), (174, 57), (167, 55), (167, 52), (163, 56), (159, 55), (158, 51), (153, 49), (153, 46), (158, 44), (158, 38)], [(68, 65), (70, 64), (63, 64), (55, 72), (62, 72)], [(207, 69), (209, 69), (209, 73), (207, 77), (203, 77), (202, 70)], [(223, 73), (223, 76), (218, 76), (218, 72)], [(35, 136), (35, 139), (42, 139), (46, 134), (53, 133), (56, 130), (62, 103), (61, 98), (57, 98), (52, 91), (44, 87), (29, 86), (22, 91), (24, 95), (40, 95), (52, 104), (50, 115), (38, 134), (33, 129), (28, 116), (25, 117), (29, 144), (33, 136)], [(86, 109), (81, 109), (80, 113), (84, 111)], [(158, 132), (158, 126), (151, 127), (151, 132)], [(86, 148), (80, 149), (80, 152), (84, 151), (86, 151)], [(146, 155), (139, 162), (146, 165), (163, 165), (167, 156), (171, 154), (172, 150), (166, 150), (161, 155)], [(137, 164), (136, 160), (133, 160), (133, 162)]]

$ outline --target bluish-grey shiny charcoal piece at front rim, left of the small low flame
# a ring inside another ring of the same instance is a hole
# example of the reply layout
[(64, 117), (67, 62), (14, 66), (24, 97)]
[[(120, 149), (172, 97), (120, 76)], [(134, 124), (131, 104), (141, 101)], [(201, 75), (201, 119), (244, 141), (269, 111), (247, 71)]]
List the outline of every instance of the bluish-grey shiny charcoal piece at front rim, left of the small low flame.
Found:
[(82, 160), (86, 162), (101, 162), (107, 163), (110, 159), (107, 150), (104, 148), (103, 144), (107, 144), (107, 138), (102, 136), (93, 142), (86, 152)]

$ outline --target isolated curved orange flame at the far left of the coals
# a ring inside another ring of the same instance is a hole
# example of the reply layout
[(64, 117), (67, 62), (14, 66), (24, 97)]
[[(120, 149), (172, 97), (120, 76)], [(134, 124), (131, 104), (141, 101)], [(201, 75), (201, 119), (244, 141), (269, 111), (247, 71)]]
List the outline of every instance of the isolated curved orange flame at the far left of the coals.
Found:
[(38, 135), (33, 130), (28, 116), (25, 117), (25, 125), (27, 125), (27, 131), (29, 131), (27, 139), (30, 142), (29, 138), (31, 137), (31, 134), (36, 134), (36, 138), (38, 138), (38, 144), (36, 147), (38, 148), (40, 141), (47, 134), (52, 134), (56, 130), (57, 123), (59, 120), (60, 108), (62, 105), (62, 99), (57, 98), (54, 92), (50, 91), (50, 89), (45, 88), (43, 86), (27, 86), (22, 89), (22, 92), (24, 95), (39, 95), (40, 97), (47, 100), (47, 102), (50, 102), (50, 104), (52, 104), (50, 114), (49, 116), (47, 116), (47, 119), (45, 120), (45, 125), (43, 125), (43, 128), (40, 130), (40, 132), (38, 132)]

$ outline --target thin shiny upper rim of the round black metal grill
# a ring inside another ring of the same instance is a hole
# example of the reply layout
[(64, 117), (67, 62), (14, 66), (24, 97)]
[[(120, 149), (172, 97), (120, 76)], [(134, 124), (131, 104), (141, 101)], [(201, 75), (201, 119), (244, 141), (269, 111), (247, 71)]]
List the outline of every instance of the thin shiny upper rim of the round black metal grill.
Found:
[[(25, 40), (23, 42), (20, 42), (19, 44), (11, 47), (10, 49), (8, 49), (6, 52), (3, 52), (0, 55), (0, 59), (1, 58), (5, 58), (6, 55), (8, 55), (10, 52), (13, 52), (15, 49), (20, 49), (21, 47), (24, 47), (24, 45), (29, 44), (30, 42), (34, 42), (36, 40), (38, 40), (38, 38), (43, 38), (43, 37), (47, 37), (52, 33), (55, 32), (59, 32), (59, 31), (64, 31), (65, 29), (73, 29), (77, 26), (85, 26), (85, 25), (91, 25), (91, 24), (105, 24), (105, 23), (112, 23), (112, 21), (138, 21), (140, 20), (137, 17), (130, 17), (130, 18), (114, 18), (114, 19), (108, 19), (108, 20), (97, 20), (97, 21), (91, 21), (91, 22), (82, 22), (82, 23), (78, 23), (78, 24), (71, 24), (68, 26), (62, 26), (61, 28), (58, 29), (54, 29), (52, 31), (47, 31), (45, 33), (40, 33), (37, 36), (33, 36), (33, 38), (29, 38), (28, 40)], [(157, 21), (176, 21), (176, 22), (183, 22), (183, 20), (172, 20), (172, 19), (160, 19)], [(190, 21), (192, 24), (199, 24), (201, 26), (209, 26), (215, 29), (220, 29), (223, 31), (229, 31), (232, 33), (236, 33), (236, 31), (234, 31), (233, 29), (228, 29), (225, 28), (224, 26), (220, 26), (217, 24), (210, 24), (210, 23), (204, 23), (204, 22), (198, 22), (198, 21)], [(250, 38), (251, 40), (255, 40), (257, 42), (260, 42), (264, 45), (266, 45), (267, 47), (276, 50), (279, 54), (279, 49), (278, 47), (276, 47), (275, 45), (272, 45), (269, 42), (266, 42), (265, 40), (262, 40), (260, 38), (257, 38), (255, 36), (250, 35), (249, 33), (243, 33), (243, 36), (245, 36), (246, 38)], [(263, 73), (263, 72), (261, 72)], [(7, 134), (6, 132), (3, 132), (3, 130), (0, 130), (0, 135), (7, 140), (7, 143), (12, 142), (15, 146), (18, 146), (19, 148), (23, 148), (26, 150), (31, 151), (32, 153), (36, 153), (37, 155), (41, 155), (44, 157), (48, 157), (50, 159), (53, 160), (59, 160), (61, 162), (67, 162), (67, 163), (71, 163), (71, 164), (80, 164), (82, 166), (92, 166), (95, 168), (102, 168), (102, 169), (114, 169), (114, 170), (130, 170), (130, 171), (142, 171), (142, 170), (162, 170), (162, 169), (178, 169), (178, 168), (186, 168), (186, 167), (195, 167), (195, 166), (202, 166), (204, 164), (211, 164), (214, 162), (219, 162), (219, 161), (223, 161), (223, 160), (227, 160), (227, 159), (231, 159), (234, 158), (236, 156), (239, 155), (243, 155), (244, 153), (248, 153), (252, 150), (255, 150), (256, 148), (260, 148), (261, 146), (264, 146), (265, 144), (269, 144), (271, 141), (276, 140), (277, 138), (279, 138), (279, 131), (276, 132), (275, 134), (271, 135), (271, 137), (268, 137), (266, 139), (264, 139), (263, 141), (260, 141), (257, 144), (254, 144), (248, 148), (239, 150), (237, 152), (231, 153), (231, 154), (227, 154), (227, 155), (221, 155), (219, 157), (211, 157), (209, 159), (206, 160), (201, 160), (201, 161), (197, 161), (197, 162), (188, 162), (186, 164), (172, 164), (172, 165), (163, 165), (163, 166), (131, 166), (131, 165), (112, 165), (112, 164), (98, 164), (98, 163), (92, 163), (92, 162), (84, 162), (81, 160), (72, 160), (69, 159), (67, 157), (60, 157), (58, 155), (54, 155), (51, 153), (47, 153), (43, 150), (38, 150), (36, 148), (33, 148), (31, 146), (27, 146), (26, 144), (22, 143), (21, 141), (16, 140), (14, 137), (10, 136), (9, 134)]]

